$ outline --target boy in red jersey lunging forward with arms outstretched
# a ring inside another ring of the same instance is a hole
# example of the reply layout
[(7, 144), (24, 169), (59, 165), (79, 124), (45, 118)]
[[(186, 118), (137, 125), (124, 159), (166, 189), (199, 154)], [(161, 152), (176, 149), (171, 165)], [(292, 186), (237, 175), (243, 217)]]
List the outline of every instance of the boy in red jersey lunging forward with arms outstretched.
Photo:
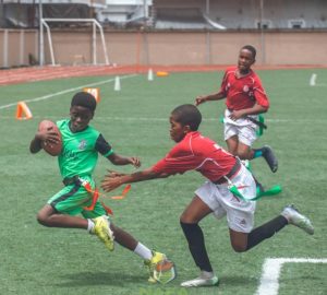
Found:
[(217, 219), (227, 215), (231, 245), (237, 252), (250, 250), (287, 224), (293, 224), (308, 234), (314, 233), (310, 220), (292, 205), (286, 206), (279, 216), (253, 229), (256, 202), (233, 196), (229, 182), (252, 199), (256, 196), (255, 181), (235, 156), (197, 131), (201, 120), (202, 115), (194, 105), (177, 107), (170, 116), (170, 137), (177, 144), (170, 152), (146, 170), (133, 174), (111, 172), (101, 184), (104, 190), (111, 191), (123, 184), (164, 178), (187, 170), (197, 170), (207, 178), (180, 217), (190, 251), (201, 270), (198, 278), (181, 284), (185, 287), (218, 283), (198, 225), (210, 213)]

